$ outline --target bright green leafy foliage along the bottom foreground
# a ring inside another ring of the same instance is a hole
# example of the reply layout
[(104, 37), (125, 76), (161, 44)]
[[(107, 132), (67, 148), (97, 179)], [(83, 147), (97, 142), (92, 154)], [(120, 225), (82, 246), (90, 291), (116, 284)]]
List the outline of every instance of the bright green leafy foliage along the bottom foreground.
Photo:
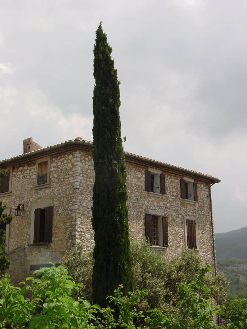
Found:
[[(211, 272), (208, 265), (201, 266), (190, 282), (176, 285), (177, 302), (173, 311), (162, 312), (139, 308), (147, 297), (146, 289), (135, 290), (124, 295), (120, 285), (114, 295), (108, 297), (106, 308), (92, 305), (72, 297), (81, 285), (75, 284), (68, 275), (66, 266), (41, 268), (34, 273), (38, 278), (29, 277), (20, 287), (10, 283), (8, 275), (0, 280), (0, 328), (68, 328), (68, 329), (197, 329), (214, 328), (213, 316), (220, 307), (213, 303), (211, 289), (205, 278)], [(28, 283), (28, 284), (27, 284)], [(26, 292), (31, 291), (31, 298)], [(247, 300), (236, 300), (229, 307), (230, 328), (246, 328)]]

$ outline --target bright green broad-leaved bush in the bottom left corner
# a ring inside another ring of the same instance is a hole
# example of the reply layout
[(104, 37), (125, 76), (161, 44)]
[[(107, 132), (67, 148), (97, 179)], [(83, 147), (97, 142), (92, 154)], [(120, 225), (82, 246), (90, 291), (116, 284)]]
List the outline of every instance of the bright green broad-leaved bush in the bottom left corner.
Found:
[[(41, 278), (27, 278), (29, 285), (20, 283), (22, 288), (11, 285), (8, 275), (3, 276), (0, 280), (0, 321), (6, 321), (14, 328), (94, 328), (90, 322), (95, 319), (98, 306), (72, 298), (73, 291), (79, 291), (81, 286), (75, 284), (65, 266), (56, 268), (54, 263), (51, 264), (52, 267), (34, 272)], [(29, 290), (31, 299), (25, 297)]]

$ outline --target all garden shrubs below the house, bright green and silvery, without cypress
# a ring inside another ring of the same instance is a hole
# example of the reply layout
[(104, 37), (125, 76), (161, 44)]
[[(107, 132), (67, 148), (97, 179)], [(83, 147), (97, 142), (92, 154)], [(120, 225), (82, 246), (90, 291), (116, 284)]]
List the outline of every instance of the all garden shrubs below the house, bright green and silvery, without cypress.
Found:
[[(3, 275), (0, 328), (246, 328), (247, 299), (225, 303), (225, 279), (213, 278), (195, 252), (183, 250), (167, 260), (143, 242), (133, 243), (132, 253), (134, 291), (124, 294), (120, 285), (103, 308), (91, 302), (93, 258), (82, 246), (67, 254), (68, 267), (51, 263), (18, 287)], [(217, 314), (221, 325), (215, 323)]]

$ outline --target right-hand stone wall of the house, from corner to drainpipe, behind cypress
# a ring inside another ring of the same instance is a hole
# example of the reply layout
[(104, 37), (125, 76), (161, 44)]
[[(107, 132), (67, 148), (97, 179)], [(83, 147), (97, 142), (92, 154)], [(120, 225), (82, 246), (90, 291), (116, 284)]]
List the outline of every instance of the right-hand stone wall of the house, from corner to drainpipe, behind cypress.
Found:
[[(93, 248), (94, 232), (91, 226), (91, 206), (94, 183), (94, 166), (91, 153), (80, 155), (82, 166), (78, 168), (81, 183), (78, 186), (78, 208), (76, 210), (76, 241)], [(148, 166), (126, 162), (128, 191), (128, 221), (130, 238), (141, 240), (145, 237), (145, 214), (147, 212), (168, 217), (169, 247), (157, 248), (167, 257), (178, 255), (185, 247), (185, 220), (193, 217), (197, 223), (198, 250), (203, 259), (213, 264), (212, 230), (209, 199), (209, 182), (195, 178), (198, 186), (198, 201), (187, 201), (180, 198), (180, 178), (182, 174), (164, 171), (166, 194), (145, 191), (144, 171)], [(192, 175), (190, 178), (194, 178)]]

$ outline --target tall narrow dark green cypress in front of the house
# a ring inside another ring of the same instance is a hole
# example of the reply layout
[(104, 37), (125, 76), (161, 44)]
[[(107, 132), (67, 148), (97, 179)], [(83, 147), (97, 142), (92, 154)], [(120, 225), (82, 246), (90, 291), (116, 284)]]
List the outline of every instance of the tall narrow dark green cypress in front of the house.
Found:
[(106, 297), (119, 284), (133, 290), (129, 249), (124, 149), (119, 115), (117, 70), (101, 23), (94, 47), (93, 159), (95, 183), (92, 225), (95, 232), (93, 301), (106, 306)]

